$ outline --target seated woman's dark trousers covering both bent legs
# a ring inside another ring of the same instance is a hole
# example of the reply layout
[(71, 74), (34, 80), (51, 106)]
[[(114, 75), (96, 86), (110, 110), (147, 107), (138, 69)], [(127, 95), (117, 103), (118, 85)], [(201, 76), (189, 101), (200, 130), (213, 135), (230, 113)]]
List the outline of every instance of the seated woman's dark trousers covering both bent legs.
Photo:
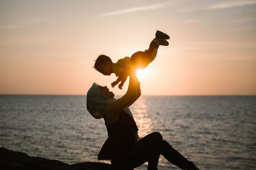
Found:
[(134, 143), (118, 159), (111, 160), (115, 167), (132, 169), (148, 162), (148, 169), (157, 169), (159, 155), (163, 155), (169, 162), (180, 169), (189, 169), (191, 162), (183, 157), (168, 142), (163, 140), (159, 132), (148, 134)]

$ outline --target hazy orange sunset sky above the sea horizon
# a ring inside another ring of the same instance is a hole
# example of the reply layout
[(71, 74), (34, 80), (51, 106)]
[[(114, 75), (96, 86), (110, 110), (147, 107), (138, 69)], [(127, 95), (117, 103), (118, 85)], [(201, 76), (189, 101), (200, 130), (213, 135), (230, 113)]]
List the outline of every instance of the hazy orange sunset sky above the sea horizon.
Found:
[(143, 95), (256, 95), (256, 0), (0, 0), (0, 94), (86, 95), (93, 69), (170, 35), (139, 76)]

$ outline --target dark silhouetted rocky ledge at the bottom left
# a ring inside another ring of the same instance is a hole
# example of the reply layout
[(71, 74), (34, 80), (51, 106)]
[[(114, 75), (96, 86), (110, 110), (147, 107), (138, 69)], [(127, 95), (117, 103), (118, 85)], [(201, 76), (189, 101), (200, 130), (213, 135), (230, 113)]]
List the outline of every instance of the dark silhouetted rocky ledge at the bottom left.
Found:
[[(81, 162), (77, 164), (66, 164), (60, 160), (44, 159), (40, 157), (29, 157), (23, 152), (14, 152), (6, 148), (0, 148), (1, 169), (61, 169), (61, 170), (114, 170), (111, 164), (100, 162)], [(125, 169), (125, 168), (124, 168)], [(116, 169), (115, 169), (116, 170)]]

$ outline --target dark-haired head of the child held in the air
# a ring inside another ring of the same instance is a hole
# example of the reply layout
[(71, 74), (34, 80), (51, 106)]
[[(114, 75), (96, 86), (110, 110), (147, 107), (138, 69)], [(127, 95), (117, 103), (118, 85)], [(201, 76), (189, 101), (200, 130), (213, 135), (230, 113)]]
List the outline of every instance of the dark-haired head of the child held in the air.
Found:
[(112, 73), (112, 60), (107, 55), (99, 55), (95, 60), (94, 68), (104, 75)]

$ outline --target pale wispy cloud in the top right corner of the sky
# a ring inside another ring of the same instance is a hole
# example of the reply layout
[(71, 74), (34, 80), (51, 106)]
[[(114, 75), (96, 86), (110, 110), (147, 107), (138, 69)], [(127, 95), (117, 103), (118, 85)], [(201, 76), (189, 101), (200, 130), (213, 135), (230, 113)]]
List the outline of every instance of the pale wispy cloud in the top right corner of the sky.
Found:
[(245, 6), (249, 4), (256, 4), (256, 0), (231, 0), (221, 1), (220, 3), (212, 4), (204, 8), (204, 10), (220, 9), (220, 8), (232, 8), (236, 6)]

